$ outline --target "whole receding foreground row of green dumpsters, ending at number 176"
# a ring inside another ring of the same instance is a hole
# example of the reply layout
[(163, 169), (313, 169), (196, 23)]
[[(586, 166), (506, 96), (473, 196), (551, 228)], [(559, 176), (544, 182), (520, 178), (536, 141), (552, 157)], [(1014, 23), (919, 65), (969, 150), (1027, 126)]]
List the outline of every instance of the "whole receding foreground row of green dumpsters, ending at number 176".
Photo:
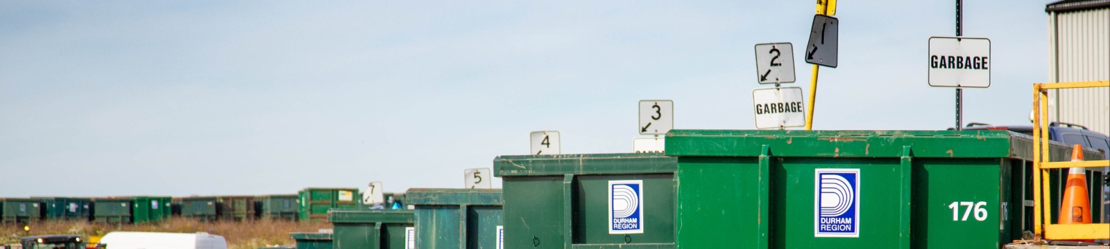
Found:
[[(1052, 144), (1049, 154), (1070, 153)], [(1031, 137), (1005, 131), (672, 131), (665, 155), (500, 156), (503, 189), (414, 188), (414, 210), (333, 209), (334, 234), (293, 238), (299, 248), (1000, 248), (1032, 230), (1031, 154)]]

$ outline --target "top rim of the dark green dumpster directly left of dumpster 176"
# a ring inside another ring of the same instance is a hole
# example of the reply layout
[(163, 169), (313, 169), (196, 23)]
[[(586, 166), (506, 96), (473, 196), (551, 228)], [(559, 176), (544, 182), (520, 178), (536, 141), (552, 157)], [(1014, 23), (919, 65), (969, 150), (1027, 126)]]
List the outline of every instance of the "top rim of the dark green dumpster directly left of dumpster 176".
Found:
[(678, 159), (659, 153), (498, 156), (494, 176), (674, 174)]

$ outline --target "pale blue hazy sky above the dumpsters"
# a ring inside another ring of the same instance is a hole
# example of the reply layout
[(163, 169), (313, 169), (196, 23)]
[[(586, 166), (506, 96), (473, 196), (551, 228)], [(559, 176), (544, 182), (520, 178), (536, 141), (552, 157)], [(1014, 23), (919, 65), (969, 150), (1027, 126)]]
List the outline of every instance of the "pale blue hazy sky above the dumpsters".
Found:
[[(965, 1), (991, 40), (968, 122), (1028, 124), (1045, 1)], [(955, 1), (840, 1), (815, 129), (945, 129), (927, 81)], [(0, 196), (462, 187), (528, 153), (632, 152), (637, 101), (676, 128), (750, 129), (753, 45), (803, 48), (814, 1), (0, 1)], [(494, 183), (500, 187), (498, 181)]]

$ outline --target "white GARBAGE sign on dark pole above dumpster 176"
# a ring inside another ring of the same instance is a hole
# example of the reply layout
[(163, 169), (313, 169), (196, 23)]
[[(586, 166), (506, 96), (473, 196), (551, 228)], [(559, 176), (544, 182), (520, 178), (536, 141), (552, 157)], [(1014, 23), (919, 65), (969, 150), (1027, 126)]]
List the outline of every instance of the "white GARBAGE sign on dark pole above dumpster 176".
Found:
[(990, 87), (990, 39), (929, 38), (929, 85)]

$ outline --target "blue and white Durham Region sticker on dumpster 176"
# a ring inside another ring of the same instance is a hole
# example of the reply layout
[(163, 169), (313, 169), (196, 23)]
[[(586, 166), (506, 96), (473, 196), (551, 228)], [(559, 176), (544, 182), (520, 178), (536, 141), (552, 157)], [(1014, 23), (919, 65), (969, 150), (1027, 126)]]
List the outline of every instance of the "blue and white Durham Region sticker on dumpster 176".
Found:
[(859, 168), (817, 168), (814, 237), (859, 237)]

